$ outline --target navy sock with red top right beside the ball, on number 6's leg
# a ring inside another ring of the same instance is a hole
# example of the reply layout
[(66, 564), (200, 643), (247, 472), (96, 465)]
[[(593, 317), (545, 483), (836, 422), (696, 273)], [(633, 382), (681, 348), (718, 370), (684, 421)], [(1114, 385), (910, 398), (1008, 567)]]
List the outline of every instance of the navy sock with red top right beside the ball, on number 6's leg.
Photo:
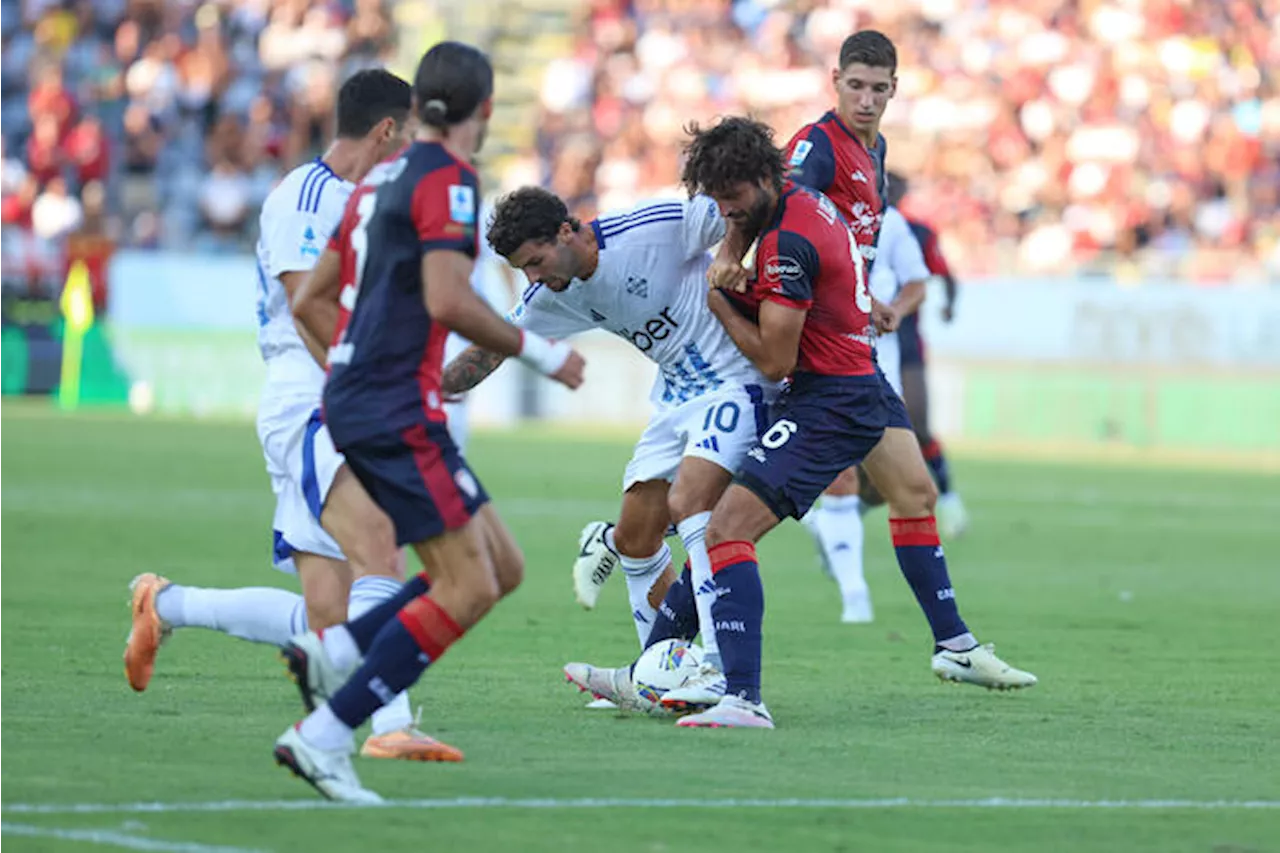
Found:
[(750, 542), (721, 542), (707, 549), (716, 580), (712, 621), (724, 663), (724, 694), (760, 701), (760, 625), (764, 585)]

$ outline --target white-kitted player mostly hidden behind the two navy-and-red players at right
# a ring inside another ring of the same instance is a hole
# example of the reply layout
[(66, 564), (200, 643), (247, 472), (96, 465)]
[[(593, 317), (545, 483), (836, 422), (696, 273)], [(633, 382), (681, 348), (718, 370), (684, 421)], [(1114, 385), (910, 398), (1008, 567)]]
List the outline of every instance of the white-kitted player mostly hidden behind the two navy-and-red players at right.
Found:
[[(891, 309), (891, 328), (896, 328), (897, 320), (920, 307), (928, 278), (929, 268), (906, 218), (897, 207), (886, 207), (876, 242), (869, 289), (877, 301)], [(902, 368), (896, 330), (881, 332), (877, 337), (876, 361), (901, 397)], [(850, 479), (852, 494), (824, 494), (822, 505), (804, 517), (804, 524), (818, 544), (823, 564), (840, 587), (841, 621), (869, 622), (873, 620), (873, 610), (870, 589), (863, 574), (863, 508), (878, 506), (883, 503), (883, 498), (860, 473)], [(859, 480), (865, 501), (858, 494)]]

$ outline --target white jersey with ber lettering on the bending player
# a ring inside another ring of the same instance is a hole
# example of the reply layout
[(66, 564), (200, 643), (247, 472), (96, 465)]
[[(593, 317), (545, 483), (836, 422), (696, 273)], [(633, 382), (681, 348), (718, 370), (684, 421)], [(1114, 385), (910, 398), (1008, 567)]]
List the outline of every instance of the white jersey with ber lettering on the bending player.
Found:
[(646, 202), (585, 227), (600, 248), (595, 273), (559, 293), (530, 284), (512, 323), (550, 338), (599, 328), (630, 341), (658, 365), (650, 398), (659, 409), (726, 384), (776, 384), (707, 307), (708, 251), (724, 238), (716, 202)]

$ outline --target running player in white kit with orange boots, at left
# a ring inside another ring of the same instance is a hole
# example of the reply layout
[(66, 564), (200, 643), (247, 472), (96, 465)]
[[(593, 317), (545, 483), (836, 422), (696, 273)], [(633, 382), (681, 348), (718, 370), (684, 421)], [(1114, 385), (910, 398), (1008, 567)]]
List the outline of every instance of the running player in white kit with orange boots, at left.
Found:
[[(397, 575), (360, 560), (361, 532), (370, 515), (381, 511), (346, 469), (321, 423), (324, 370), (312, 356), (316, 342), (300, 334), (289, 302), (342, 219), (356, 183), (403, 145), (411, 100), (408, 83), (390, 72), (353, 74), (338, 92), (337, 138), (323, 156), (284, 177), (264, 201), (259, 220), (257, 321), (266, 383), (257, 433), (276, 497), (274, 564), (298, 575), (302, 594), (270, 587), (206, 589), (152, 573), (138, 575), (131, 583), (133, 625), (124, 652), (125, 676), (134, 690), (146, 689), (156, 652), (173, 629), (206, 628), (284, 646), (308, 628), (358, 616), (394, 596), (403, 581), (402, 566)], [(404, 694), (375, 716), (372, 726), (365, 756), (460, 757), (417, 731)]]

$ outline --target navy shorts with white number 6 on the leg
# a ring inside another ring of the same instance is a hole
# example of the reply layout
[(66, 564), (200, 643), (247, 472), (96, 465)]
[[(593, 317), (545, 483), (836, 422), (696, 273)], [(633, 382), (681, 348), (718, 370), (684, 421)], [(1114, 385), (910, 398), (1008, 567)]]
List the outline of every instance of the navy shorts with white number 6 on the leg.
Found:
[(799, 519), (891, 426), (910, 429), (911, 420), (878, 368), (870, 377), (797, 374), (737, 482), (780, 519)]

